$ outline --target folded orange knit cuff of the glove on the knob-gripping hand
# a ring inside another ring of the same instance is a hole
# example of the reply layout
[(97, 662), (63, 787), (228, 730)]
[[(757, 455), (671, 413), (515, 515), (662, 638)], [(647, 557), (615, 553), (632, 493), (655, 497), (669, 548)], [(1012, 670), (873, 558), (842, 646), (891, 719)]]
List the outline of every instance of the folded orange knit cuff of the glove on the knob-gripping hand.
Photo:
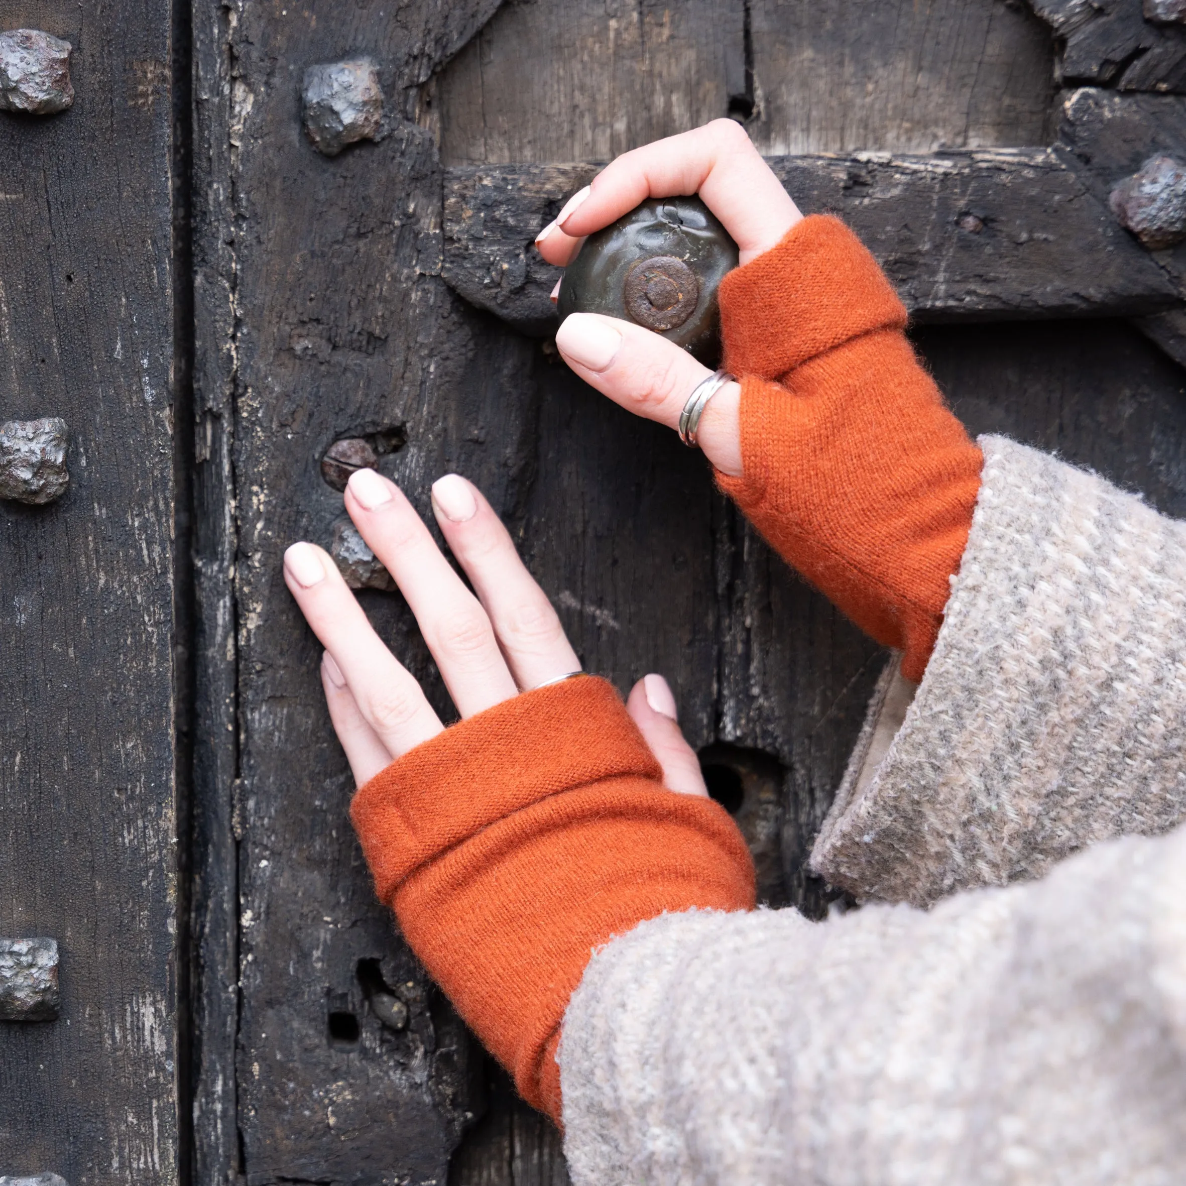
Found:
[(861, 241), (811, 215), (721, 282), (725, 368), (779, 378), (873, 330), (903, 329), (906, 308)]

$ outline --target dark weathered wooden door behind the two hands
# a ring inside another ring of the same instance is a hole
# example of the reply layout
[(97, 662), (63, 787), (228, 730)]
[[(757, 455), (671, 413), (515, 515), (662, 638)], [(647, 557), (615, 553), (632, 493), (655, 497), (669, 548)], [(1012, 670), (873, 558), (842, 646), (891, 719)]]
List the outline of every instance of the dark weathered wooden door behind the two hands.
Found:
[[(1173, 7), (2, 6), (71, 43), (76, 98), (0, 111), (0, 425), (70, 433), (62, 497), (0, 500), (0, 943), (60, 969), (57, 1021), (0, 1020), (0, 1181), (567, 1181), (350, 830), (281, 579), (340, 540), (327, 449), (425, 512), (473, 478), (585, 667), (671, 681), (764, 900), (821, 916), (805, 857), (886, 656), (573, 378), (531, 240), (599, 162), (732, 116), (878, 254), (969, 428), (1186, 514), (1186, 248), (1109, 205), (1186, 152)], [(327, 154), (306, 72), (361, 59), (381, 106)], [(402, 600), (359, 595), (447, 716)]]

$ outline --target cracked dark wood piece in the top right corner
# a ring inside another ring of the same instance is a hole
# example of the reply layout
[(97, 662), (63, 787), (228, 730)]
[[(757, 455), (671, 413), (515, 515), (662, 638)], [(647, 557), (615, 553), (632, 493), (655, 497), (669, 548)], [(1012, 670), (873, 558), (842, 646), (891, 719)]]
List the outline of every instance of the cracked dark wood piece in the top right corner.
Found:
[(1186, 30), (1144, 19), (1142, 0), (1029, 0), (1060, 39), (1064, 83), (1186, 93)]

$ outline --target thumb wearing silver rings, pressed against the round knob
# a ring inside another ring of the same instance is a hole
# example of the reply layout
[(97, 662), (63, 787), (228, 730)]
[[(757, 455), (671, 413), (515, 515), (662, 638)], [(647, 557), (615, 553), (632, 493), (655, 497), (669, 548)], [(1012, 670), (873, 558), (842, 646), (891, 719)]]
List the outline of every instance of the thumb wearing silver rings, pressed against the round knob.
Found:
[[(600, 313), (569, 313), (556, 331), (556, 349), (591, 387), (627, 412), (668, 428), (712, 371), (667, 338)], [(699, 445), (721, 473), (741, 474), (741, 388), (726, 383), (708, 401)]]

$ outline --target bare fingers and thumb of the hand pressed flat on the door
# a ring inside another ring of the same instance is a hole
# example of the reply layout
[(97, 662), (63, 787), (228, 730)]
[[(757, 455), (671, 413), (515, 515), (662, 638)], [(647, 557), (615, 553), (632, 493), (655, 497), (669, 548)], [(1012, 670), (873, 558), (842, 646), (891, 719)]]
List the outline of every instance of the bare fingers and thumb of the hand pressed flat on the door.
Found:
[[(580, 669), (543, 591), (490, 504), (465, 478), (433, 485), (433, 512), (471, 593), (400, 489), (374, 470), (346, 486), (346, 510), (416, 617), (463, 718)], [(285, 581), (325, 646), (321, 684), (338, 740), (362, 786), (444, 728), (420, 684), (388, 650), (333, 560), (311, 543), (285, 553)], [(662, 676), (639, 680), (627, 710), (672, 791), (706, 795)]]

